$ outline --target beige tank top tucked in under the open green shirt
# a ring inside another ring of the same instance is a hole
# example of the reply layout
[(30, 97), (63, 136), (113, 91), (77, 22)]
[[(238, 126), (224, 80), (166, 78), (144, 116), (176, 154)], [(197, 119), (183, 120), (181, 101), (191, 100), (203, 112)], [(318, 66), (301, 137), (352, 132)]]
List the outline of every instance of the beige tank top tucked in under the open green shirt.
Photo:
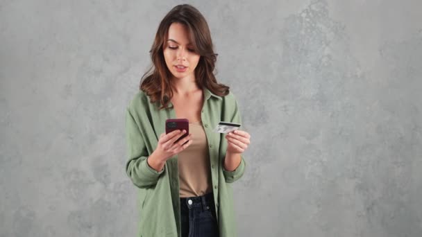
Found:
[(202, 122), (189, 123), (192, 144), (178, 153), (180, 198), (196, 197), (212, 191), (210, 155)]

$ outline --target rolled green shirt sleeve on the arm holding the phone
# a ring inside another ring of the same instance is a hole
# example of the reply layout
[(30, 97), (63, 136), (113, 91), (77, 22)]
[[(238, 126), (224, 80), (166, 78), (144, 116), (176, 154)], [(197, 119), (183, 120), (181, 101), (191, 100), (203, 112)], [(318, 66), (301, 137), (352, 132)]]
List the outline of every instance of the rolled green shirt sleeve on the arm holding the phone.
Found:
[(129, 109), (126, 109), (125, 127), (126, 152), (128, 155), (126, 173), (128, 177), (139, 188), (148, 188), (157, 184), (158, 178), (164, 171), (164, 168), (158, 172), (146, 162), (149, 154), (146, 150), (144, 138)]

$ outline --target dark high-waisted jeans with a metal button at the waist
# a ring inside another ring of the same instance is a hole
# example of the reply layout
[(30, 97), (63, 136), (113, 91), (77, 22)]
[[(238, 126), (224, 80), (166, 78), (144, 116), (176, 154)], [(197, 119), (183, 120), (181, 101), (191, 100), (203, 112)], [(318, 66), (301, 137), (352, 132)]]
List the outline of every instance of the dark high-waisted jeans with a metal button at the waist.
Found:
[(218, 237), (212, 193), (199, 197), (180, 198), (180, 220), (183, 237)]

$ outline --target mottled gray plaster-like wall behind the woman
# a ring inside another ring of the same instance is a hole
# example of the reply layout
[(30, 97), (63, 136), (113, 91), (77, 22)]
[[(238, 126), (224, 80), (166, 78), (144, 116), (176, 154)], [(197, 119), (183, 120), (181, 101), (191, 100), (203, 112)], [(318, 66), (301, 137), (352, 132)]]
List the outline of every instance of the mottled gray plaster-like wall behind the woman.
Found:
[[(124, 109), (181, 1), (0, 1), (0, 237), (135, 236)], [(193, 1), (252, 134), (239, 236), (422, 236), (422, 1)]]

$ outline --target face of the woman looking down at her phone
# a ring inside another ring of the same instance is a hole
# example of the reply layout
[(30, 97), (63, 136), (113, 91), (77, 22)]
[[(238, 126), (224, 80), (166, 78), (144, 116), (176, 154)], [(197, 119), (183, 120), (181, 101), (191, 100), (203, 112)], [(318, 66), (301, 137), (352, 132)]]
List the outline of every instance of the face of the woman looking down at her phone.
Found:
[(195, 77), (194, 71), (201, 56), (194, 52), (191, 43), (185, 25), (171, 24), (163, 53), (167, 68), (175, 78)]

